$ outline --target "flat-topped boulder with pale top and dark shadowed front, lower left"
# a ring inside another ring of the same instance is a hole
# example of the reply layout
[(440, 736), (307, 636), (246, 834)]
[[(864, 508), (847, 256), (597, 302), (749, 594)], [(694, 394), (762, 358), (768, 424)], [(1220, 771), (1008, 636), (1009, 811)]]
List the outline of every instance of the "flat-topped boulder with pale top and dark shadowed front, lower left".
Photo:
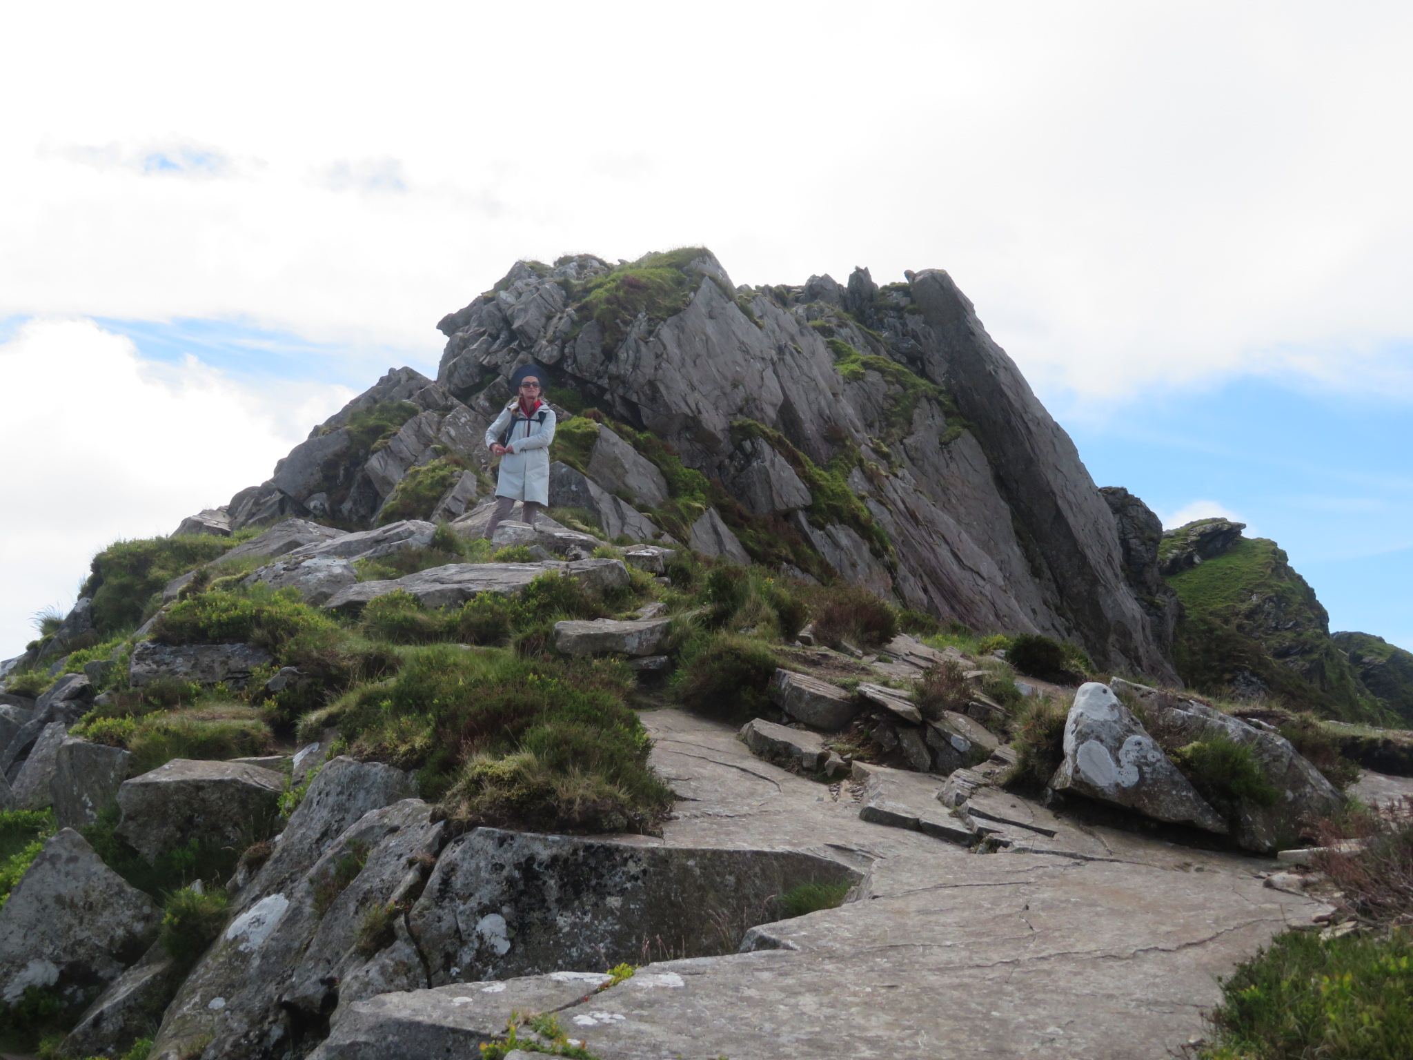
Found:
[(172, 759), (119, 787), (117, 834), (150, 862), (191, 840), (243, 849), (264, 835), (283, 791), (284, 776), (270, 769)]

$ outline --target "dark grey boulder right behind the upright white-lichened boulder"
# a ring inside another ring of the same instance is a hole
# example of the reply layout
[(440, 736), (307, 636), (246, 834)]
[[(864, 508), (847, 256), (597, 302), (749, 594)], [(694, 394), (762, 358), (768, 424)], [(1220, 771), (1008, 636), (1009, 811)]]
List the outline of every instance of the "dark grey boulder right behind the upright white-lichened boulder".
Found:
[(1252, 759), (1280, 791), (1280, 799), (1275, 806), (1242, 800), (1232, 834), (1246, 849), (1272, 854), (1290, 847), (1303, 834), (1306, 821), (1328, 817), (1344, 806), (1340, 790), (1284, 736), (1258, 729), (1195, 700), (1164, 694), (1122, 678), (1115, 678), (1113, 685), (1137, 695), (1149, 711), (1150, 722), (1161, 725), (1174, 742), (1191, 743), (1224, 734), (1251, 748)]

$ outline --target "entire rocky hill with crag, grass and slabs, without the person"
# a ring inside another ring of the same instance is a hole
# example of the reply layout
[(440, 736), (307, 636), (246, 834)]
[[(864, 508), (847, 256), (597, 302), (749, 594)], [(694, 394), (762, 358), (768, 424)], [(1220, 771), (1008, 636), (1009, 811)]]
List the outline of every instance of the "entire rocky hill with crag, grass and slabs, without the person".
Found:
[(1376, 921), (1407, 653), (1098, 488), (945, 271), (581, 254), (438, 326), (0, 663), (0, 1046), (1228, 1057), (1226, 977)]

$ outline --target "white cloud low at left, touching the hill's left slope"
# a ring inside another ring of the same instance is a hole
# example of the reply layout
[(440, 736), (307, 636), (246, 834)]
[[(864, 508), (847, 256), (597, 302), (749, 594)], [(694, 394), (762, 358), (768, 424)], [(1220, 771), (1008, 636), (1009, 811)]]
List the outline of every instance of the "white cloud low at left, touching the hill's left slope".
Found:
[(40, 605), (72, 605), (88, 561), (270, 476), (343, 387), (237, 384), (194, 359), (141, 359), (82, 319), (31, 321), (0, 345), (0, 657)]

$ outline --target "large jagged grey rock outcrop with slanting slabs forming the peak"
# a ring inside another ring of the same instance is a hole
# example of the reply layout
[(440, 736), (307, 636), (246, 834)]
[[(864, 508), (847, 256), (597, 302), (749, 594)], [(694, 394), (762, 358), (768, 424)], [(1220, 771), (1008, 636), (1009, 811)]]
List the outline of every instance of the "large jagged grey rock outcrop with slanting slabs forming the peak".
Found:
[[(814, 277), (752, 291), (706, 252), (634, 269), (678, 277), (675, 300), (615, 317), (579, 300), (630, 284), (626, 270), (586, 256), (517, 264), (442, 319), (438, 382), (472, 401), (487, 375), (534, 359), (670, 442), (742, 510), (801, 512), (805, 547), (851, 579), (976, 629), (1072, 637), (1102, 666), (1174, 677), (1108, 505), (945, 273), (880, 288), (859, 270), (848, 287)], [(780, 441), (738, 437), (740, 420)], [(800, 457), (835, 461), (866, 512), (814, 496)], [(866, 540), (866, 523), (889, 548)]]

